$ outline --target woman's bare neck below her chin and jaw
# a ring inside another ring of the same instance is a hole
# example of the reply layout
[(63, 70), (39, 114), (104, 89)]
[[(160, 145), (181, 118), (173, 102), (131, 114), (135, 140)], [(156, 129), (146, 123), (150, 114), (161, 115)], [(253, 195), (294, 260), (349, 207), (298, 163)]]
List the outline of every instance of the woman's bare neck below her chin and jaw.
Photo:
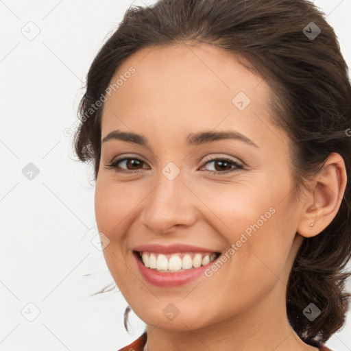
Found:
[(291, 328), (282, 290), (281, 286), (276, 287), (249, 311), (211, 326), (195, 330), (147, 326), (146, 350), (317, 351), (304, 343)]

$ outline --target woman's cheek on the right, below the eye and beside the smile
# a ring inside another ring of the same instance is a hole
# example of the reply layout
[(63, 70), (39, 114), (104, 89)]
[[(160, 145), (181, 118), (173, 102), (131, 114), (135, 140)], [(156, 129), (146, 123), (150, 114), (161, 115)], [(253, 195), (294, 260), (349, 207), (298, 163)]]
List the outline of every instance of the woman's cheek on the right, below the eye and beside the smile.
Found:
[(271, 179), (248, 182), (238, 177), (236, 184), (211, 184), (202, 192), (211, 211), (206, 221), (225, 237), (228, 247), (235, 245), (231, 261), (237, 269), (254, 276), (257, 269), (282, 274), (295, 237), (297, 206), (292, 195), (287, 196), (291, 184), (286, 179), (277, 185)]

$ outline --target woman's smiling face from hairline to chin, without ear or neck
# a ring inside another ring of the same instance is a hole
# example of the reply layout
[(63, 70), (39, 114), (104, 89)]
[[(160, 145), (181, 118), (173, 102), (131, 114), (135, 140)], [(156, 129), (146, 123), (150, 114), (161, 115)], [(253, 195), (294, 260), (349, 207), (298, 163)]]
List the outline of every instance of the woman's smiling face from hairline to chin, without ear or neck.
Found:
[[(111, 84), (118, 79), (102, 115), (95, 213), (132, 310), (173, 330), (285, 313), (300, 208), (269, 86), (205, 44), (142, 49)], [(158, 270), (185, 268), (157, 272), (138, 252)], [(206, 252), (221, 256), (208, 263)]]

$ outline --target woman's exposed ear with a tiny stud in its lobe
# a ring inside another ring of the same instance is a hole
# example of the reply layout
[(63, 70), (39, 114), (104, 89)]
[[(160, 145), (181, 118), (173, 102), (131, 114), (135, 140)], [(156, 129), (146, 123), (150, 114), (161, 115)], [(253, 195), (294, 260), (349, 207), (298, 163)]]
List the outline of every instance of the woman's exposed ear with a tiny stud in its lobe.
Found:
[(345, 193), (347, 179), (343, 158), (333, 152), (311, 181), (311, 187), (304, 197), (297, 229), (302, 237), (315, 237), (335, 218)]

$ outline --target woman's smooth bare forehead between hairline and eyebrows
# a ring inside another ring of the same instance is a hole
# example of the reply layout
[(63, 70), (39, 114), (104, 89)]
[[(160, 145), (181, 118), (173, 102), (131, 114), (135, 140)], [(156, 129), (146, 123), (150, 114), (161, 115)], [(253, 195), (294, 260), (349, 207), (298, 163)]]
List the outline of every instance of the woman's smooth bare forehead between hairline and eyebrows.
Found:
[[(126, 74), (131, 68), (134, 73)], [(104, 106), (103, 136), (118, 128), (143, 132), (151, 126), (165, 135), (183, 132), (184, 126), (186, 134), (216, 125), (247, 132), (269, 115), (266, 82), (237, 56), (213, 45), (145, 47), (122, 62), (110, 85), (117, 80)]]

